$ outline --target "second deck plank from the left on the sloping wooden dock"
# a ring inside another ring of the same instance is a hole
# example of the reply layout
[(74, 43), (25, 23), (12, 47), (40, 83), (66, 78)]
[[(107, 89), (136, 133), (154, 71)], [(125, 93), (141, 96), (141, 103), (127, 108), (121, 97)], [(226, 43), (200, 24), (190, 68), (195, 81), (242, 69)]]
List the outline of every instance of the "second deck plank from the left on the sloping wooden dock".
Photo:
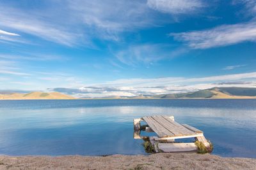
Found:
[(165, 118), (163, 118), (161, 116), (158, 116), (158, 115), (157, 116), (153, 116), (152, 118), (154, 118), (154, 120), (159, 122), (159, 124), (163, 125), (163, 127), (168, 129), (168, 131), (172, 132), (174, 134), (174, 136), (182, 136), (182, 135), (184, 135), (182, 133), (182, 131), (180, 131), (180, 129), (177, 129), (177, 127), (175, 127), (173, 124), (170, 124), (170, 122), (168, 122), (168, 120), (166, 120)]

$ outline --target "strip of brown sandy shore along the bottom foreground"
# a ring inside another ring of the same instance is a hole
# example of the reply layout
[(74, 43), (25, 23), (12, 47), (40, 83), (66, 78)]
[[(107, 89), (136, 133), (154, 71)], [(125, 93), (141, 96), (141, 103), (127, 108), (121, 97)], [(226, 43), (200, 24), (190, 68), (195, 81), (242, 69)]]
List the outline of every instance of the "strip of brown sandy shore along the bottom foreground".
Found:
[(0, 156), (0, 169), (256, 169), (256, 159), (222, 158), (196, 153), (106, 157)]

